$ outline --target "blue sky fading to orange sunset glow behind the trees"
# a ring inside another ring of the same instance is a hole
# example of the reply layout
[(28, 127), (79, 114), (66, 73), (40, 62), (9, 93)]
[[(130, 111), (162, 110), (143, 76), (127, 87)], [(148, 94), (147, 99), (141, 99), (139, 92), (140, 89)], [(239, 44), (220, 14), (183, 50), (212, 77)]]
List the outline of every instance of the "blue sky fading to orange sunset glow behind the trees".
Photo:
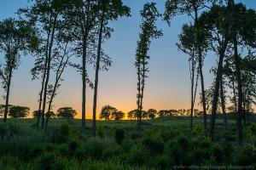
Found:
[[(105, 54), (111, 57), (113, 63), (108, 71), (99, 72), (98, 96), (96, 113), (99, 115), (102, 106), (111, 105), (119, 111), (132, 111), (137, 108), (137, 70), (134, 65), (137, 41), (139, 41), (140, 25), (142, 23), (140, 10), (143, 4), (154, 2), (162, 14), (165, 10), (166, 0), (123, 0), (123, 3), (131, 8), (131, 17), (119, 18), (109, 23), (114, 30), (112, 37), (102, 45)], [(236, 3), (244, 3), (247, 8), (256, 9), (255, 0), (235, 0)], [(27, 0), (0, 0), (0, 20), (9, 17), (17, 18), (15, 12), (19, 8), (31, 6)], [(171, 27), (166, 21), (156, 22), (159, 29), (163, 31), (163, 37), (152, 40), (148, 55), (148, 78), (143, 98), (143, 110), (178, 110), (190, 108), (190, 78), (189, 78), (189, 55), (177, 50), (177, 35), (185, 23), (192, 21), (188, 15), (179, 15), (172, 20)], [(73, 58), (74, 61), (82, 63), (81, 58)], [(34, 65), (31, 55), (22, 55), (18, 70), (14, 71), (12, 77), (9, 104), (22, 105), (32, 111), (38, 110), (38, 92), (41, 88), (41, 80), (32, 81), (31, 69)], [(3, 54), (0, 53), (0, 61), (3, 62)], [(209, 70), (216, 65), (218, 56), (208, 54), (203, 65), (205, 88), (207, 89), (214, 77)], [(95, 70), (88, 65), (88, 74), (92, 82), (95, 79)], [(51, 76), (50, 82), (53, 83)], [(73, 107), (78, 112), (76, 118), (81, 118), (82, 111), (82, 79), (79, 73), (67, 67), (62, 74), (64, 82), (57, 91), (53, 101), (53, 111), (60, 107)], [(197, 92), (201, 92), (199, 83)], [(4, 94), (0, 88), (0, 95)], [(86, 118), (92, 117), (94, 91), (87, 88), (86, 91)], [(201, 110), (199, 94), (195, 99), (195, 108)], [(5, 100), (0, 98), (0, 104)]]

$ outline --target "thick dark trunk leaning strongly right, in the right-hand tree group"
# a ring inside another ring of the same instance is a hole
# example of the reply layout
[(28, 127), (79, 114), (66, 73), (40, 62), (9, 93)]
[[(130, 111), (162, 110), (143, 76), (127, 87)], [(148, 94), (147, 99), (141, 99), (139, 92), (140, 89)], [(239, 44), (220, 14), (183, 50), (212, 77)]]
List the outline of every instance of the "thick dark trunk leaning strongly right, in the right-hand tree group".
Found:
[(217, 111), (217, 105), (218, 105), (218, 91), (219, 91), (219, 84), (220, 84), (219, 82), (220, 82), (220, 78), (222, 77), (224, 53), (229, 41), (228, 35), (229, 35), (229, 26), (230, 26), (230, 6), (231, 6), (231, 0), (228, 1), (227, 14), (225, 18), (224, 45), (220, 50), (219, 59), (218, 59), (217, 76), (215, 80), (215, 91), (214, 91), (214, 97), (213, 97), (213, 103), (212, 103), (212, 117), (211, 117), (211, 124), (210, 124), (210, 137), (212, 141), (214, 140), (214, 125), (215, 125), (216, 111)]

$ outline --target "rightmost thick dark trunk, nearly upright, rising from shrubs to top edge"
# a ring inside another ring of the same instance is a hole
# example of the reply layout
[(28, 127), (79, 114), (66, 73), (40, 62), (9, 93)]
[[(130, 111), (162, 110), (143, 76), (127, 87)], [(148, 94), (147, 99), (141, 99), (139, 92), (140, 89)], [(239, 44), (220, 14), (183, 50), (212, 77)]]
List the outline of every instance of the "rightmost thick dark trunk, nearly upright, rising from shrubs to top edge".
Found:
[(236, 78), (238, 83), (238, 111), (236, 113), (236, 119), (237, 119), (237, 136), (238, 136), (238, 144), (242, 145), (242, 128), (241, 128), (241, 112), (242, 112), (242, 91), (241, 91), (241, 72), (240, 72), (240, 61), (238, 58), (238, 52), (237, 52), (237, 41), (236, 41), (236, 8), (235, 8), (235, 2), (233, 0), (233, 17), (234, 17), (234, 25), (233, 25), (233, 40), (234, 40), (234, 53), (235, 53), (235, 60), (236, 60)]

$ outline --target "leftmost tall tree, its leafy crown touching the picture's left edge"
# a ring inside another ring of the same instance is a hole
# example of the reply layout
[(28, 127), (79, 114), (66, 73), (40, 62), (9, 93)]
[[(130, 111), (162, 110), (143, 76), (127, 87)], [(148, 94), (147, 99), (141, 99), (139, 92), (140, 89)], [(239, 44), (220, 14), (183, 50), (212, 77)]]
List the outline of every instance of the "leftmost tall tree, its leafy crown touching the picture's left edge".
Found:
[(29, 41), (32, 41), (32, 29), (24, 21), (12, 18), (0, 21), (0, 53), (4, 54), (5, 64), (0, 63), (0, 78), (5, 91), (5, 111), (3, 122), (7, 121), (9, 91), (13, 71), (20, 65), (20, 51), (26, 54)]

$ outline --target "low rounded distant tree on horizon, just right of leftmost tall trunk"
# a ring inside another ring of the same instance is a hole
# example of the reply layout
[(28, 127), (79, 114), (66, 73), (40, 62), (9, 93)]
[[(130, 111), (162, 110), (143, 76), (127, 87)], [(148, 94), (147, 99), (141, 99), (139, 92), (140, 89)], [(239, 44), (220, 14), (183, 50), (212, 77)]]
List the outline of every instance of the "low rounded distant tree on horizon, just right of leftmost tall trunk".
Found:
[(29, 115), (29, 107), (14, 105), (9, 109), (9, 116), (13, 118), (26, 117)]

